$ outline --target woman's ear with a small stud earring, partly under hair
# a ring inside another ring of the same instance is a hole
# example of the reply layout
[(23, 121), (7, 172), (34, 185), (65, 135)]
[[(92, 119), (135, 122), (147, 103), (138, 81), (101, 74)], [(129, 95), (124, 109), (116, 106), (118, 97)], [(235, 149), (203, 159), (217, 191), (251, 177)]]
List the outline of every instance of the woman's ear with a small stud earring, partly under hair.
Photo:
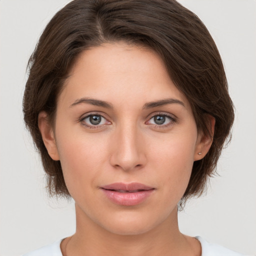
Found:
[(208, 115), (208, 129), (210, 134), (203, 134), (200, 132), (197, 137), (196, 146), (194, 150), (194, 161), (202, 159), (206, 153), (209, 151), (213, 134), (214, 134), (214, 125), (215, 125), (215, 118), (212, 115)]

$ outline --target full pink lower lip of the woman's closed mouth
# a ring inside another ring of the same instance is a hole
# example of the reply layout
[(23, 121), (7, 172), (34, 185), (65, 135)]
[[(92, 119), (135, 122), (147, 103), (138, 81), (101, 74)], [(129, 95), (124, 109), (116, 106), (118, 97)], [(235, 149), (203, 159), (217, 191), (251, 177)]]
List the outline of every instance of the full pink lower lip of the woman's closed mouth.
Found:
[(122, 193), (115, 190), (107, 190), (102, 188), (102, 191), (106, 197), (110, 199), (110, 201), (125, 206), (132, 206), (143, 202), (148, 196), (150, 196), (153, 190), (154, 189), (142, 190), (133, 193)]

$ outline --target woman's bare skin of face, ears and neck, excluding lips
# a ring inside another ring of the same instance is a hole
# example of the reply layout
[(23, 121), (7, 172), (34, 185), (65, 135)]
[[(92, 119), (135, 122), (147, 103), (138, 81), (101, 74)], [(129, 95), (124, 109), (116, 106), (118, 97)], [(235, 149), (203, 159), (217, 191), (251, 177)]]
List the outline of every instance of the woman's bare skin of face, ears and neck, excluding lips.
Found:
[[(111, 108), (78, 102), (83, 97)], [(170, 98), (176, 102), (143, 107)], [(100, 124), (89, 114), (101, 115)], [(63, 255), (201, 254), (200, 243), (179, 232), (177, 203), (211, 138), (197, 132), (188, 100), (155, 52), (122, 42), (83, 51), (58, 97), (54, 129), (45, 112), (38, 125), (75, 201), (76, 232), (61, 243)], [(100, 189), (114, 182), (154, 191), (138, 205), (117, 205)]]

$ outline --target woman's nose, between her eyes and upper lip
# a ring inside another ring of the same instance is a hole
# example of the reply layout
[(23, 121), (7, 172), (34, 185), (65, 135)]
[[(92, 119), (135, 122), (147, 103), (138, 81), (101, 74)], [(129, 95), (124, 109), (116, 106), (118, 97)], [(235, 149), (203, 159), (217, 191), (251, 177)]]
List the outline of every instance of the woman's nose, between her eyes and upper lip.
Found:
[(146, 145), (135, 125), (122, 125), (117, 128), (111, 146), (110, 164), (115, 168), (130, 171), (145, 165)]

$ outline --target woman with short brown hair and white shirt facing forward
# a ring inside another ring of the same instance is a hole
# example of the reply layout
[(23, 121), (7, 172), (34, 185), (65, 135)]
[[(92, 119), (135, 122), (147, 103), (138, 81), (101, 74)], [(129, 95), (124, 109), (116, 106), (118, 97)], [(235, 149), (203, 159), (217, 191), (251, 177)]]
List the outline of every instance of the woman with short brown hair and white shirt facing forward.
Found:
[(29, 60), (24, 120), (76, 232), (27, 255), (241, 255), (183, 235), (233, 122), (218, 50), (169, 0), (74, 0)]

